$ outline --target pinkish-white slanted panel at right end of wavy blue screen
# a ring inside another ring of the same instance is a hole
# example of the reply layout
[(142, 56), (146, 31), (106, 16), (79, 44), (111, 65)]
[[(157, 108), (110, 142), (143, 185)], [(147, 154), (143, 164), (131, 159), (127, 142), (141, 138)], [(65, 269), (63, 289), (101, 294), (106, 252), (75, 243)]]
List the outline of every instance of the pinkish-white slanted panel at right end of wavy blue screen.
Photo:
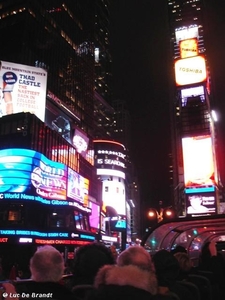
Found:
[(89, 191), (89, 180), (77, 172), (68, 168), (67, 196), (82, 204), (87, 205)]

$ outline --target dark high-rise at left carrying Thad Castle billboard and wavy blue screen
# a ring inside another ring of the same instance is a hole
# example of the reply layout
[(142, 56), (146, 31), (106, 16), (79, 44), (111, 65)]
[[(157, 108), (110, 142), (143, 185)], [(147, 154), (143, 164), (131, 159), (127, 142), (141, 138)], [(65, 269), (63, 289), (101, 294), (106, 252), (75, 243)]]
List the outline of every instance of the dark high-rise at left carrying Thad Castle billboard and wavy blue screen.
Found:
[(97, 2), (103, 3), (0, 2), (0, 235), (12, 251), (24, 241), (37, 246), (48, 240), (71, 254), (99, 231), (101, 182), (93, 148)]

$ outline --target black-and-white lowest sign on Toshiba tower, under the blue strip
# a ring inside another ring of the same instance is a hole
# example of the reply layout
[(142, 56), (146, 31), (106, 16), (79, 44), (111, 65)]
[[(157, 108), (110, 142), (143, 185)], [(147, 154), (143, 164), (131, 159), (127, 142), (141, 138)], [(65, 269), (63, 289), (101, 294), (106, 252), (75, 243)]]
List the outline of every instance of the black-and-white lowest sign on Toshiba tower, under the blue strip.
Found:
[(186, 195), (187, 215), (200, 216), (216, 213), (216, 196), (214, 193), (197, 193)]

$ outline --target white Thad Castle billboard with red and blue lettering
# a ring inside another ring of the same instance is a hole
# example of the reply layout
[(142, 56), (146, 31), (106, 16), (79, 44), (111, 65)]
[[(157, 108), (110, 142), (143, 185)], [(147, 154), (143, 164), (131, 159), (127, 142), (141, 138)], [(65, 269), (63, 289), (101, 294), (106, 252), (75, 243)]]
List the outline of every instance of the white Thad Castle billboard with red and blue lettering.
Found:
[(30, 112), (44, 122), (47, 72), (11, 62), (0, 64), (0, 116)]

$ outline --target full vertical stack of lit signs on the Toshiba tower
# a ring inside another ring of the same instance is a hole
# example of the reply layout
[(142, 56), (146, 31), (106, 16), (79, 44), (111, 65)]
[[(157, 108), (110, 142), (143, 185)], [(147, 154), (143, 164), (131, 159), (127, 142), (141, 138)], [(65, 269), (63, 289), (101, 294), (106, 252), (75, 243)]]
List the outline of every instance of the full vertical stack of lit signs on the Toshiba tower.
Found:
[(216, 164), (212, 120), (207, 104), (206, 59), (199, 53), (198, 26), (175, 32), (180, 52), (175, 61), (175, 82), (180, 93), (181, 140), (189, 216), (216, 213)]

